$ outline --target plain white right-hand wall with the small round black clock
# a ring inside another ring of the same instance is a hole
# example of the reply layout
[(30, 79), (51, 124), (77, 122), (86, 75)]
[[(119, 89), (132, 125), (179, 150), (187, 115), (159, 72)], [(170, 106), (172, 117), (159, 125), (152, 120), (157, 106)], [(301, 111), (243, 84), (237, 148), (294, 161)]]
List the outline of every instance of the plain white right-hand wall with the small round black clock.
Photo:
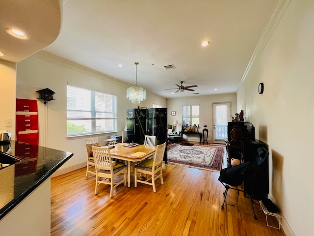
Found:
[(292, 0), (237, 91), (237, 110), (269, 146), (270, 195), (287, 235), (314, 234), (313, 26), (314, 1)]

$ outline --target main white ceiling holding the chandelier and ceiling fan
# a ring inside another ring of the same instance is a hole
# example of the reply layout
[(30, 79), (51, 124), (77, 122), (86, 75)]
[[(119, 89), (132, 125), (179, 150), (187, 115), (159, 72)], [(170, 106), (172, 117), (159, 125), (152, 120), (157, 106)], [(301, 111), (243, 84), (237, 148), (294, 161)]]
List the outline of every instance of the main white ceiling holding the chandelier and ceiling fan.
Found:
[[(138, 61), (137, 85), (164, 97), (235, 92), (275, 3), (64, 0), (61, 31), (45, 51), (131, 85)], [(47, 28), (36, 27), (43, 32)], [(202, 47), (203, 40), (210, 45)], [(176, 68), (164, 68), (171, 64)], [(180, 81), (198, 87), (175, 94), (171, 92), (176, 89), (165, 90)]]

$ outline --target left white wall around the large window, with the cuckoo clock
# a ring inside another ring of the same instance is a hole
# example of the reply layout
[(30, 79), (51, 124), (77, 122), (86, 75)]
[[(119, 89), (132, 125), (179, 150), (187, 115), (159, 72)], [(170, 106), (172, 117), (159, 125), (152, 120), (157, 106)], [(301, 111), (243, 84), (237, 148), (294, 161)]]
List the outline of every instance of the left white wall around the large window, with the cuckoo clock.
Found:
[[(42, 100), (38, 100), (39, 117), (39, 145), (47, 146), (74, 153), (60, 169), (76, 168), (77, 165), (86, 165), (86, 150), (84, 138), (67, 139), (66, 109), (67, 83), (117, 95), (117, 133), (98, 136), (102, 145), (108, 135), (121, 135), (126, 124), (126, 110), (137, 108), (138, 104), (131, 104), (126, 98), (126, 90), (130, 85), (105, 76), (73, 62), (58, 58), (46, 52), (39, 52), (17, 64), (16, 98), (36, 99), (37, 90), (49, 88), (55, 92), (54, 99), (46, 107)], [(148, 108), (153, 103), (166, 106), (166, 99), (154, 93), (147, 92), (146, 100), (140, 105)], [(45, 121), (45, 112), (48, 122)], [(47, 129), (47, 132), (45, 130)], [(47, 136), (45, 136), (45, 134)], [(126, 135), (126, 134), (125, 134)], [(46, 138), (45, 138), (46, 137)], [(45, 141), (47, 139), (47, 142)]]

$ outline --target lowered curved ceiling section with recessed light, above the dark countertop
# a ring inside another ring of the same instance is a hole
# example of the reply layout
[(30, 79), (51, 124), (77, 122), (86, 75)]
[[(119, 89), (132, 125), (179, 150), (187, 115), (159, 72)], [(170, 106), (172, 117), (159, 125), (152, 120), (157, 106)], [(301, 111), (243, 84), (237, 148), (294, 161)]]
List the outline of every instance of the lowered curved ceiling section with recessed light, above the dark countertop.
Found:
[[(61, 3), (61, 4), (60, 4)], [(59, 0), (0, 0), (0, 59), (19, 62), (50, 45), (61, 28), (62, 1)], [(5, 29), (24, 31), (21, 40)]]

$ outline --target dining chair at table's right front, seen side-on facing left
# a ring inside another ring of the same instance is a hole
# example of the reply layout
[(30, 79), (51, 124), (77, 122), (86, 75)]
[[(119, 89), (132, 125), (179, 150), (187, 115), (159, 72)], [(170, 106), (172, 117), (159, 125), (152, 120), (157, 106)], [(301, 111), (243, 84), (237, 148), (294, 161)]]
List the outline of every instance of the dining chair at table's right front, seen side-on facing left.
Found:
[[(155, 156), (153, 159), (145, 159), (134, 166), (134, 186), (137, 187), (137, 182), (145, 183), (153, 186), (153, 191), (156, 193), (155, 180), (160, 178), (161, 184), (163, 184), (162, 178), (162, 160), (166, 149), (166, 143), (156, 146)], [(140, 180), (137, 178), (138, 173), (149, 175), (146, 180)], [(151, 182), (150, 182), (151, 180)]]

